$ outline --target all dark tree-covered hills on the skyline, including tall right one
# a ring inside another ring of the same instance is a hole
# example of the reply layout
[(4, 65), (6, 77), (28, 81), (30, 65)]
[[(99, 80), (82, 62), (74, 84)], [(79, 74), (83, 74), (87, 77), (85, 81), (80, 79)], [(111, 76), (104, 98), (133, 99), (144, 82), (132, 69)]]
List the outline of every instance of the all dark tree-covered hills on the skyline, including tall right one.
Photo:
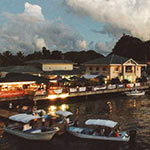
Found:
[[(123, 35), (118, 40), (110, 54), (133, 58), (136, 61), (147, 62), (150, 61), (150, 41), (144, 42), (138, 38)], [(102, 57), (104, 57), (102, 54), (97, 53), (94, 50), (69, 51), (63, 53), (59, 50), (50, 51), (43, 47), (41, 51), (34, 51), (26, 56), (21, 51), (15, 55), (10, 51), (0, 53), (0, 66), (21, 65), (25, 61), (38, 59), (65, 59), (81, 64)]]

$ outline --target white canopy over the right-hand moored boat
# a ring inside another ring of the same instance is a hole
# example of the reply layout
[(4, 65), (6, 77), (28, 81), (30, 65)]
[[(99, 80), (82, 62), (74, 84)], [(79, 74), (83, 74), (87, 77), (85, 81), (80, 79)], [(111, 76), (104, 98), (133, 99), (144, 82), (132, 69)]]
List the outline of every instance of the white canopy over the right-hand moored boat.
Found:
[(86, 125), (99, 125), (99, 126), (106, 126), (110, 128), (114, 128), (117, 125), (117, 122), (111, 120), (104, 120), (104, 119), (89, 119), (85, 122)]

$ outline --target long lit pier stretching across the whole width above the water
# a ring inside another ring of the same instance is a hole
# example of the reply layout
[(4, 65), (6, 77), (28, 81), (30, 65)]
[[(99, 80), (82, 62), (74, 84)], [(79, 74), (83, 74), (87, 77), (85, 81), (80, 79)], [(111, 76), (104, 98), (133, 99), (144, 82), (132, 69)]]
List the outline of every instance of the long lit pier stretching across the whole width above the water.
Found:
[(123, 93), (131, 90), (150, 90), (149, 83), (135, 83), (135, 84), (112, 84), (103, 86), (84, 86), (84, 87), (59, 87), (58, 89), (48, 89), (44, 91), (32, 92), (32, 94), (26, 94), (23, 96), (13, 96), (13, 97), (0, 97), (0, 102), (14, 102), (19, 101), (31, 101), (36, 102), (40, 100), (54, 100), (54, 99), (64, 99), (64, 98), (75, 98), (75, 97), (88, 97), (91, 95), (104, 95), (113, 93)]

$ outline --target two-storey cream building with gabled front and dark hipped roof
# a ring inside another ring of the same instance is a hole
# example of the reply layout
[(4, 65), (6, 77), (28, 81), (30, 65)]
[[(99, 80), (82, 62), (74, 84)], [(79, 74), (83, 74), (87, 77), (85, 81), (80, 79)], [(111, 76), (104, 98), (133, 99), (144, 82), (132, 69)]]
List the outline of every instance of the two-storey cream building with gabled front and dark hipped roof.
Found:
[(114, 54), (88, 61), (82, 65), (85, 66), (85, 74), (103, 75), (107, 77), (107, 80), (118, 77), (121, 81), (127, 79), (131, 82), (140, 78), (142, 69), (146, 67), (146, 64), (136, 62), (132, 58)]

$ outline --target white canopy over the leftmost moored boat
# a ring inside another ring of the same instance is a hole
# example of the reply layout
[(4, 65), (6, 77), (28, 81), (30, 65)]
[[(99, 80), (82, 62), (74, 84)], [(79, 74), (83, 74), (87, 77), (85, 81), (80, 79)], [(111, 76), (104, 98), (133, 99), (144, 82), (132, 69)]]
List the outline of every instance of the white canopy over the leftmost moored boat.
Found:
[(31, 120), (41, 118), (40, 116), (33, 116), (32, 114), (17, 114), (10, 116), (9, 119), (13, 121), (18, 121), (22, 123), (28, 123)]

